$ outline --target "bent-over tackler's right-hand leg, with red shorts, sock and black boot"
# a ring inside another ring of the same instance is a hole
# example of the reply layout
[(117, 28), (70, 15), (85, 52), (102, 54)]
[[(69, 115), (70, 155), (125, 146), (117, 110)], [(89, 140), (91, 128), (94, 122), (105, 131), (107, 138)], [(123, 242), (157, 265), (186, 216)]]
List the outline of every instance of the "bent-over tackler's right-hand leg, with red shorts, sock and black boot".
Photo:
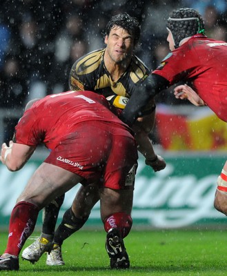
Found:
[(106, 250), (111, 268), (130, 266), (123, 239), (132, 226), (130, 214), (137, 158), (137, 147), (132, 137), (113, 137), (100, 190), (101, 219), (107, 232)]

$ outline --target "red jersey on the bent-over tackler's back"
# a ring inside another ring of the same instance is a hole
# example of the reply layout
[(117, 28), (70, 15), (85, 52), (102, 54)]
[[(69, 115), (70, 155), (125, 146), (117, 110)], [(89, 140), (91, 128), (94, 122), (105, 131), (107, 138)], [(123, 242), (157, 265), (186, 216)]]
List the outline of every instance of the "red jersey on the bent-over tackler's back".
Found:
[(90, 91), (68, 91), (33, 103), (15, 127), (14, 139), (28, 146), (44, 143), (52, 150), (62, 140), (75, 138), (77, 124), (94, 120), (106, 122), (108, 130), (117, 135), (130, 135), (130, 128), (108, 109), (105, 97)]

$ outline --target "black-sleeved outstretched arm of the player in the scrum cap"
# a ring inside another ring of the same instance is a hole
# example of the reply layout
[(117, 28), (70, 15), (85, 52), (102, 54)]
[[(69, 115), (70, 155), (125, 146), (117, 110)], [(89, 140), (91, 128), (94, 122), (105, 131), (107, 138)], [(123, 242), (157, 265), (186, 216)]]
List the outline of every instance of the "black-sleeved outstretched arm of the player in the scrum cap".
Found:
[(161, 90), (168, 88), (169, 81), (159, 75), (149, 75), (138, 87), (137, 92), (130, 97), (126, 108), (121, 113), (121, 120), (132, 126), (140, 116), (146, 103), (155, 97)]

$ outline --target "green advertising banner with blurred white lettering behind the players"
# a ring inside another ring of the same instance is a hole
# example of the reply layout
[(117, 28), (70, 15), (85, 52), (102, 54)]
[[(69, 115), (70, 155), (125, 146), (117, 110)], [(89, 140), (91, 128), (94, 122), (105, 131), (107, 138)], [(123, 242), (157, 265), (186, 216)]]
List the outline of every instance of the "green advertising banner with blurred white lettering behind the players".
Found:
[[(168, 153), (165, 170), (153, 172), (139, 157), (132, 218), (135, 228), (217, 227), (227, 223), (226, 217), (213, 207), (216, 182), (226, 157), (214, 153)], [(0, 227), (8, 220), (17, 197), (41, 164), (33, 158), (18, 172), (0, 165)], [(79, 184), (80, 185), (80, 184)], [(72, 204), (79, 185), (66, 193), (59, 219)], [(37, 227), (41, 226), (41, 214)], [(102, 226), (97, 204), (86, 226)]]

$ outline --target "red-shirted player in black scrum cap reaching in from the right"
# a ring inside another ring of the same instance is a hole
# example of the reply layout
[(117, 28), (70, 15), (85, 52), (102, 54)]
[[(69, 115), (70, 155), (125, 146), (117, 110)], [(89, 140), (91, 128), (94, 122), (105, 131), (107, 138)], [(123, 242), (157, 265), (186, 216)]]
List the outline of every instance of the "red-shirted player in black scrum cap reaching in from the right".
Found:
[[(167, 30), (170, 54), (146, 78), (139, 97), (130, 97), (121, 119), (132, 126), (150, 98), (184, 81), (191, 89), (179, 86), (175, 89), (176, 97), (188, 97), (196, 106), (206, 105), (227, 122), (227, 42), (206, 37), (201, 14), (191, 8), (172, 11)], [(227, 162), (217, 179), (214, 205), (227, 215)]]

